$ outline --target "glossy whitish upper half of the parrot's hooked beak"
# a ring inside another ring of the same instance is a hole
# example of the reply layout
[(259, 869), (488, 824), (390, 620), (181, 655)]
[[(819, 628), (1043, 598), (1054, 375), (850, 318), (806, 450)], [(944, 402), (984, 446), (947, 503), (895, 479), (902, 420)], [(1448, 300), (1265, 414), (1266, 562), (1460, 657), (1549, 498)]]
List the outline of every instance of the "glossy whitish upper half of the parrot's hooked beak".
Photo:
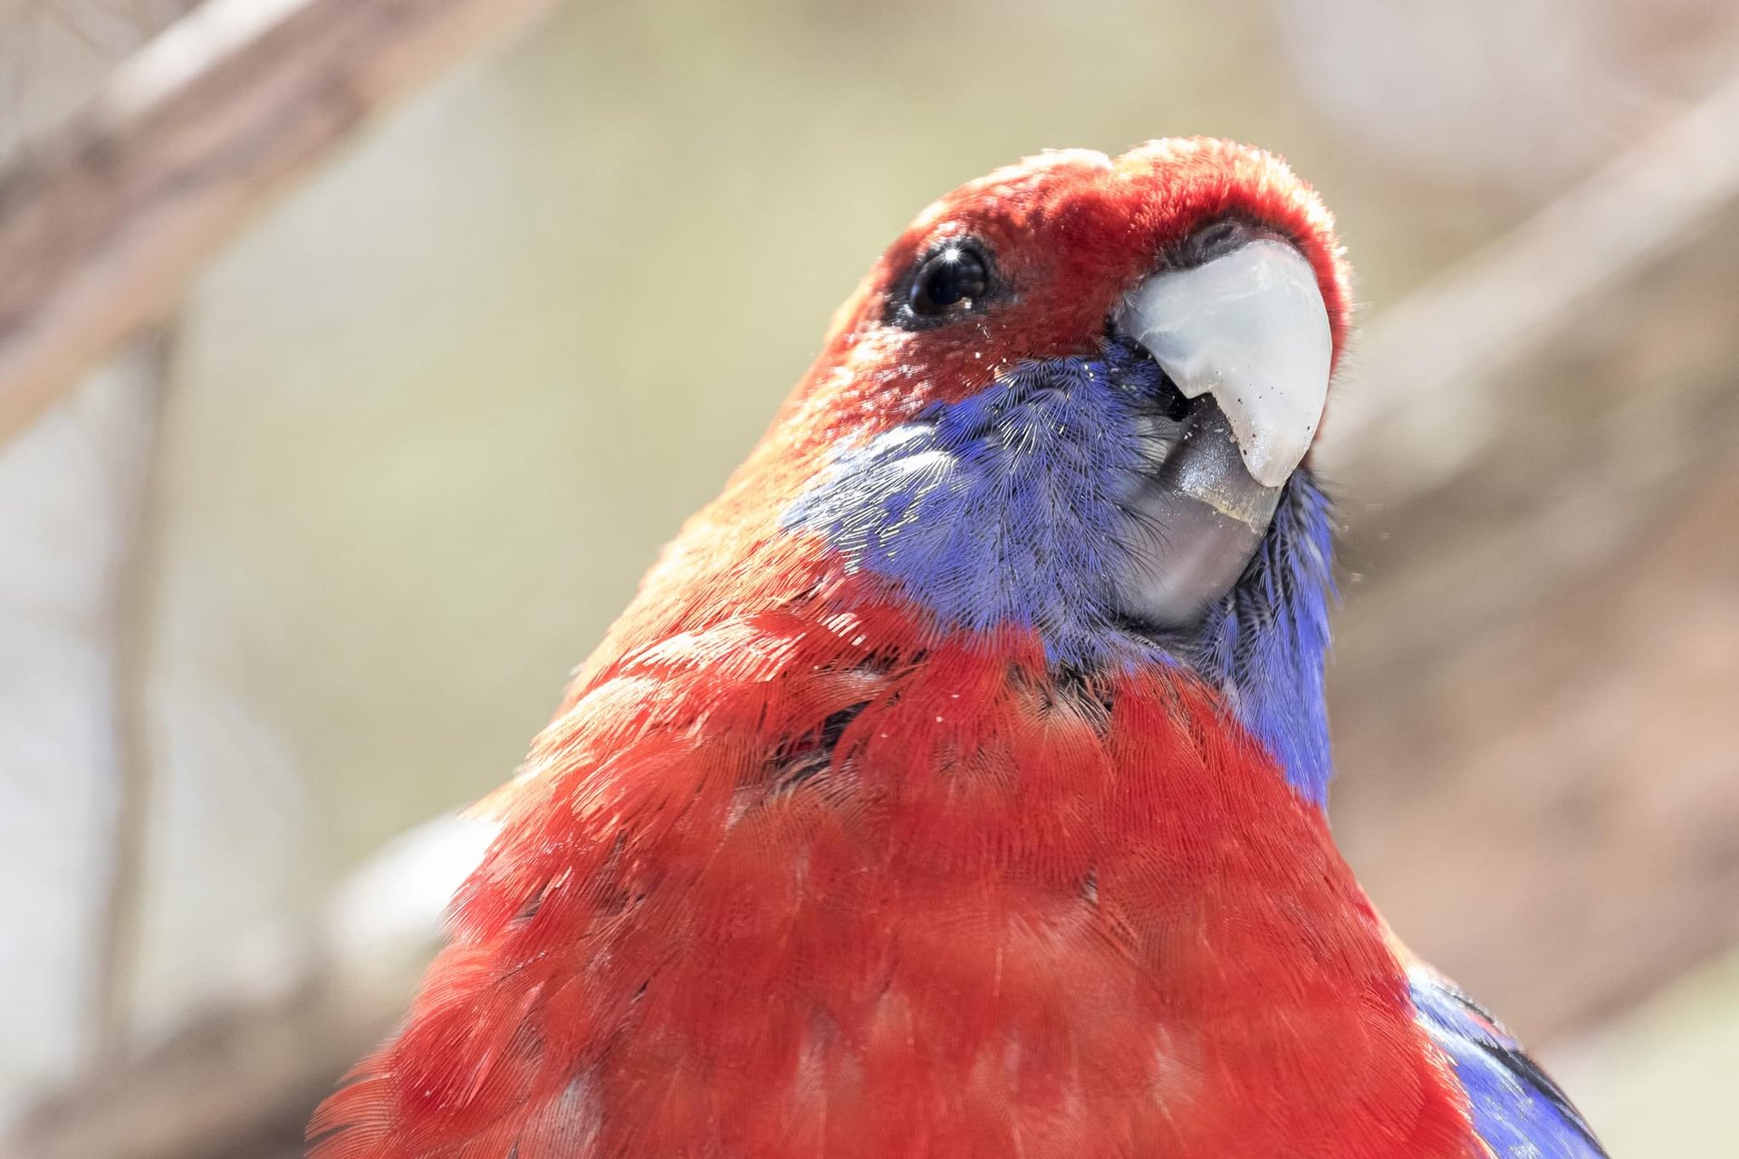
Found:
[(1123, 295), (1116, 325), (1184, 398), (1212, 393), (1243, 466), (1280, 487), (1316, 436), (1334, 335), (1316, 271), (1285, 242), (1259, 240)]

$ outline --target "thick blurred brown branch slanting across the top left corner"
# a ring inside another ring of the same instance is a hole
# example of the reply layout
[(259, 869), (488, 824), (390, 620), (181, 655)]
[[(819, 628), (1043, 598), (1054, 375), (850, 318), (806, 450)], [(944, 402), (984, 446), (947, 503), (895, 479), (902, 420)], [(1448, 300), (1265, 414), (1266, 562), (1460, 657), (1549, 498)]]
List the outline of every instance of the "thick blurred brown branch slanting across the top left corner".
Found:
[(207, 0), (0, 176), (0, 440), (167, 316), (273, 195), (555, 0)]

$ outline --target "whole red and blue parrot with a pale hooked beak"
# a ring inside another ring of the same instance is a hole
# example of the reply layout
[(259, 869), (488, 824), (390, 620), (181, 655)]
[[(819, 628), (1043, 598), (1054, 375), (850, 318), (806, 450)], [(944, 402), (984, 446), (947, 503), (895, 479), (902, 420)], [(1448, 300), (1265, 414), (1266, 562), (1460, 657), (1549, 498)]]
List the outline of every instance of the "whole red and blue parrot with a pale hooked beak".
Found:
[(1351, 330), (1257, 148), (925, 209), (480, 805), (313, 1159), (1593, 1159), (1330, 836)]

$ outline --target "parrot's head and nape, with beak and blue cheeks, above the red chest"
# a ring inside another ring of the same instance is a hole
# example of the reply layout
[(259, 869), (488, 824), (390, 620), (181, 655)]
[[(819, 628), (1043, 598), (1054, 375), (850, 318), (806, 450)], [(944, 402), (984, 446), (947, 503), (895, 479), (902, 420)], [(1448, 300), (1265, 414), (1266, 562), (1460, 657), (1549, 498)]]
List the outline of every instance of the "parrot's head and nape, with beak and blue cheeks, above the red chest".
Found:
[(1259, 149), (969, 182), (840, 308), (603, 653), (755, 599), (896, 605), (906, 653), (1193, 672), (1320, 796), (1329, 516), (1303, 464), (1346, 327), (1329, 212)]

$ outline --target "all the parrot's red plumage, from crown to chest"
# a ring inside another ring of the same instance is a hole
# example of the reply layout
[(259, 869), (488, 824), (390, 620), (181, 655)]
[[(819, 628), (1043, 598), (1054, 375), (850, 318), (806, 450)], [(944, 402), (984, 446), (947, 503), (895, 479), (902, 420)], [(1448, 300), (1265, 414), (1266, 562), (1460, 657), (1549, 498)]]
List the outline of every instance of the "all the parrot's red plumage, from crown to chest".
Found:
[[(492, 801), (318, 1159), (1483, 1154), (1320, 810), (1219, 693), (1057, 674), (779, 525), (842, 440), (1085, 349), (1226, 214), (1315, 262), (1339, 346), (1329, 217), (1252, 149), (1045, 155), (913, 224)], [(963, 334), (871, 325), (962, 221), (1042, 290)]]

